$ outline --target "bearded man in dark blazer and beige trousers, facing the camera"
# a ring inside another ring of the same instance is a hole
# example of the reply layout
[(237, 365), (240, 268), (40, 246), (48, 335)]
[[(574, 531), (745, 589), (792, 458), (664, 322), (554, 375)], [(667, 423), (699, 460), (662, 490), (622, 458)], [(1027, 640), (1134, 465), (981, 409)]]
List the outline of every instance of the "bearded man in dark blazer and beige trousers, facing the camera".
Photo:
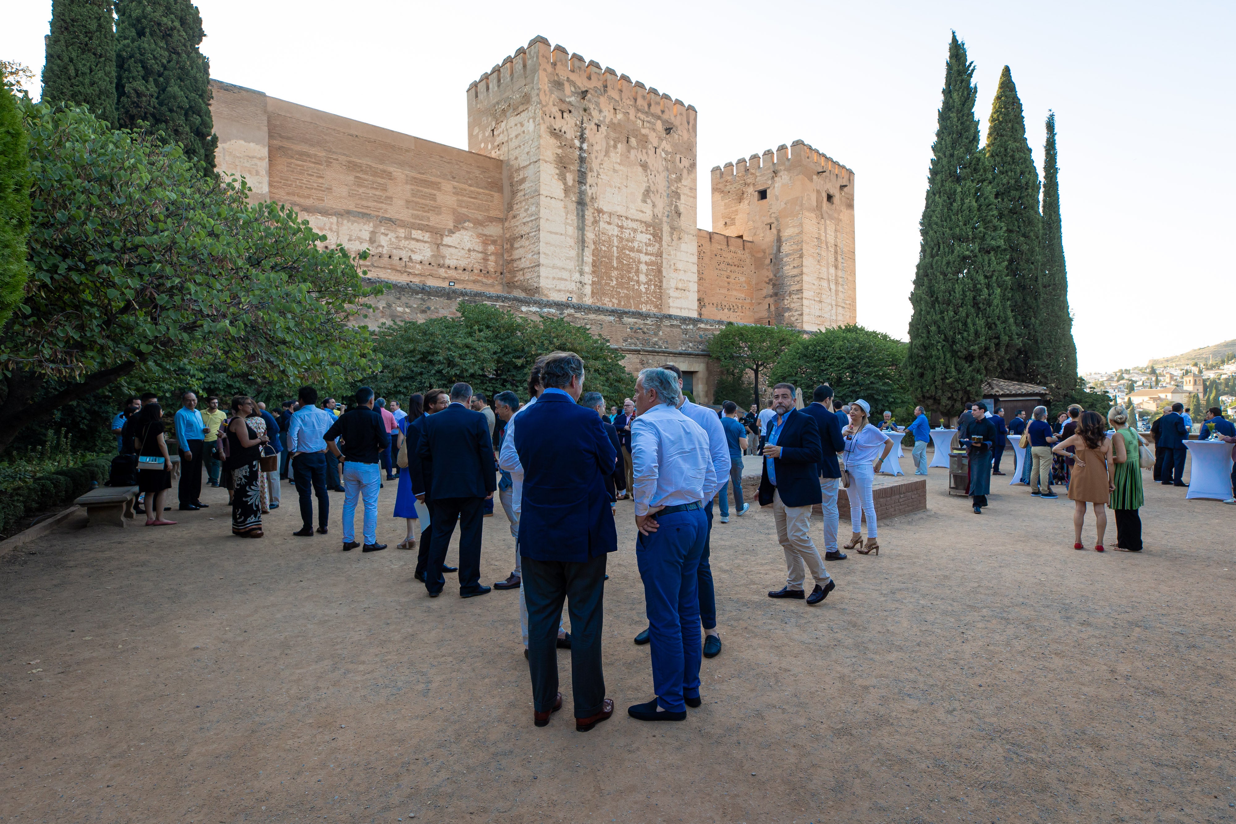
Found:
[[(794, 384), (772, 387), (772, 418), (764, 430), (764, 474), (760, 477), (760, 507), (772, 507), (777, 541), (785, 550), (786, 586), (769, 598), (803, 598), (818, 604), (837, 584), (824, 571), (824, 561), (811, 540), (811, 508), (821, 503), (819, 462), (824, 460), (816, 419), (794, 404)], [(805, 571), (816, 588), (802, 589)]]

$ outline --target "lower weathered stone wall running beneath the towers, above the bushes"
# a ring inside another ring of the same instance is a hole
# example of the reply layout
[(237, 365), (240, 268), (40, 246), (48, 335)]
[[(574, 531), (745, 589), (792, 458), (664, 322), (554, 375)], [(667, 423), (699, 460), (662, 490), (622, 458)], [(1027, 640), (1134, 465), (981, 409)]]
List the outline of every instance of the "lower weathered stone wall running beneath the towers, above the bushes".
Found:
[(461, 300), (489, 304), (524, 316), (551, 315), (602, 335), (624, 353), (625, 366), (632, 374), (666, 362), (676, 364), (691, 379), (695, 399), (698, 403), (712, 401), (717, 376), (714, 367), (709, 366), (708, 341), (724, 329), (723, 320), (392, 282), (372, 277), (366, 280), (371, 284), (383, 283), (387, 287), (383, 295), (370, 303), (368, 319), (360, 321), (371, 329), (404, 320), (457, 316)]

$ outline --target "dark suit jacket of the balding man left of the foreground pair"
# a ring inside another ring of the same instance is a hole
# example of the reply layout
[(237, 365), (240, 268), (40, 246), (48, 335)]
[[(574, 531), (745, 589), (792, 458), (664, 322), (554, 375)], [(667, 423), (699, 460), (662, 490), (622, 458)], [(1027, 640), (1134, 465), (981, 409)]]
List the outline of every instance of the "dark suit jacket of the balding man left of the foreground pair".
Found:
[[(452, 403), (419, 419), (417, 445), (426, 500), (485, 498), (498, 488), (489, 421), (478, 411)], [(408, 462), (409, 467), (412, 461)]]

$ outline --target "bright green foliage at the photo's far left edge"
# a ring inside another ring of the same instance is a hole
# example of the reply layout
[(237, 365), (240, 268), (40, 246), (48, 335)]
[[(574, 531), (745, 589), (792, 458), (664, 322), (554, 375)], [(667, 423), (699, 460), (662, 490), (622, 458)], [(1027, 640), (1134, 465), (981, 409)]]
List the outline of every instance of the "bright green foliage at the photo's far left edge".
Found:
[(17, 98), (0, 88), (0, 324), (26, 285), (30, 232), (30, 148)]

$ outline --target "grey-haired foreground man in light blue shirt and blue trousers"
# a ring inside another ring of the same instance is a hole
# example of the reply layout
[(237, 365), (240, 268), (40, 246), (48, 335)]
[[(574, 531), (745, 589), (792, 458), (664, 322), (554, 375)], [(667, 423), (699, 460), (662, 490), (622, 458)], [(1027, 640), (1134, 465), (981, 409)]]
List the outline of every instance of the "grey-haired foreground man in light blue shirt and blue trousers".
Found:
[[(708, 435), (679, 410), (679, 379), (643, 369), (635, 382), (632, 476), (635, 561), (653, 645), (656, 698), (627, 714), (641, 721), (681, 721), (700, 705), (700, 557), (708, 537), (703, 514), (717, 486)], [(574, 629), (574, 624), (572, 624)]]

